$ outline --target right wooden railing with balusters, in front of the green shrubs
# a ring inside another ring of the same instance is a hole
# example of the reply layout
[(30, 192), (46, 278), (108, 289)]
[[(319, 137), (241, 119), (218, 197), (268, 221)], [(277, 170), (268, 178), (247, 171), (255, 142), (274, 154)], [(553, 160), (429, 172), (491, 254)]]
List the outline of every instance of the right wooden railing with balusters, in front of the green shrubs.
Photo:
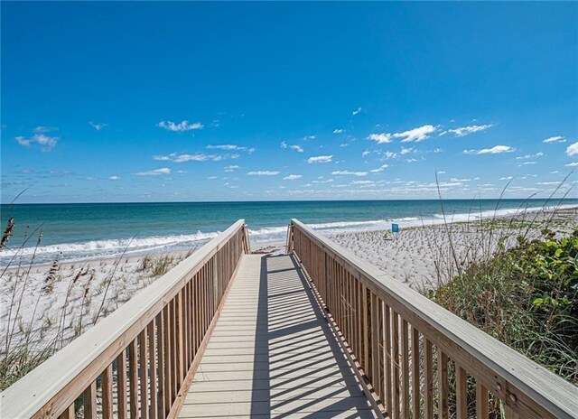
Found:
[[(378, 414), (578, 417), (578, 388), (293, 219), (299, 258)], [(491, 396), (489, 396), (491, 395)]]

